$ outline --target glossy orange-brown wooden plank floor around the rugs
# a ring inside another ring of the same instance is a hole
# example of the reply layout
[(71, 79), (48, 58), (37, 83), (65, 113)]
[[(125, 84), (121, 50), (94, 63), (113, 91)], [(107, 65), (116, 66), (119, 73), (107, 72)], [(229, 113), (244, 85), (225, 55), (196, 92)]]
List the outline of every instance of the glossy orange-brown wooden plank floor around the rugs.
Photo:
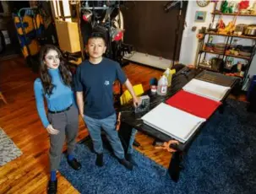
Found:
[[(150, 78), (159, 78), (161, 75), (159, 70), (134, 64), (123, 69), (132, 84), (143, 84), (144, 89), (149, 88)], [(23, 58), (0, 63), (0, 89), (8, 101), (8, 105), (5, 105), (0, 100), (0, 127), (23, 152), (18, 159), (0, 168), (1, 194), (46, 193), (49, 140), (35, 109), (35, 78), (37, 75), (25, 66)], [(78, 141), (87, 135), (80, 119)], [(138, 148), (140, 152), (157, 163), (168, 166), (171, 155), (166, 151), (155, 150), (152, 146), (153, 139), (141, 133), (138, 133), (136, 139), (141, 143)], [(58, 193), (79, 193), (62, 175), (58, 173), (57, 177)]]

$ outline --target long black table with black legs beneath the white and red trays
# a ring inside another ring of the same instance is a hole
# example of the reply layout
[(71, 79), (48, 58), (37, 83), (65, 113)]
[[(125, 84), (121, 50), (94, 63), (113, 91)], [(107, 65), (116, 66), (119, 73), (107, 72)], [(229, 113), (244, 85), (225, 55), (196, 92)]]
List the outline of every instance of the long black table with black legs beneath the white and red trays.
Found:
[[(150, 110), (153, 109), (156, 105), (159, 105), (161, 102), (165, 102), (172, 95), (176, 94), (177, 91), (182, 89), (182, 86), (187, 84), (192, 78), (195, 78), (201, 72), (202, 70), (199, 70), (199, 69), (188, 69), (188, 67), (182, 68), (182, 70), (179, 71), (172, 78), (172, 87), (168, 89), (168, 93), (166, 96), (151, 95), (150, 91), (147, 91), (145, 94), (150, 95)], [(178, 78), (178, 76), (184, 76), (183, 81), (180, 83), (178, 82), (178, 80), (175, 80), (175, 78)], [(237, 84), (237, 80), (234, 80), (233, 84), (231, 85), (231, 89), (233, 89), (236, 84)], [(222, 105), (219, 106), (219, 108), (217, 109), (221, 113), (223, 113), (224, 111), (224, 107), (226, 105), (226, 98), (231, 93), (231, 89), (229, 89), (226, 95), (223, 97), (223, 99), (221, 100)], [(143, 116), (145, 113), (142, 113), (142, 114), (133, 113), (132, 105), (124, 105), (119, 110), (122, 112), (119, 137), (122, 140), (123, 148), (126, 153), (128, 151), (128, 143), (129, 143), (133, 128), (139, 130), (140, 132), (144, 132), (150, 137), (154, 137), (157, 140), (160, 140), (161, 142), (169, 142), (170, 140), (174, 140), (172, 137), (166, 135), (165, 133), (159, 132), (155, 128), (144, 124), (143, 121), (140, 119), (140, 117)], [(180, 171), (182, 170), (181, 164), (182, 164), (183, 155), (188, 151), (188, 148), (190, 147), (191, 143), (193, 143), (195, 138), (199, 135), (202, 127), (204, 127), (204, 124), (207, 121), (205, 121), (204, 123), (202, 123), (201, 126), (198, 127), (198, 129), (193, 133), (193, 135), (188, 139), (186, 143), (179, 143), (178, 145), (171, 144), (170, 147), (177, 150), (177, 152), (172, 153), (172, 158), (170, 159), (170, 163), (168, 167), (168, 173), (171, 176), (172, 181), (177, 182), (179, 180)]]

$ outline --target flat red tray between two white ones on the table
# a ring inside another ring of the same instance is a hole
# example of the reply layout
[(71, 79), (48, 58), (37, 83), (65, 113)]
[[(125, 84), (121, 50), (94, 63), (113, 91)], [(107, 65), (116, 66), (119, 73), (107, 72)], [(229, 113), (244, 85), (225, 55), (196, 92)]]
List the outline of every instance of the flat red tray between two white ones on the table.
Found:
[(194, 116), (208, 119), (222, 103), (180, 90), (166, 100), (166, 104)]

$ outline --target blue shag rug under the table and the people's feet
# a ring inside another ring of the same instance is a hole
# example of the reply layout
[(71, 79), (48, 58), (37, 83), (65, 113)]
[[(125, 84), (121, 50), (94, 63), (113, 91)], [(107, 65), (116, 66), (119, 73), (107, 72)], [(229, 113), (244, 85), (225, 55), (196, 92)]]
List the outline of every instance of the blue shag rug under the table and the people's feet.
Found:
[(193, 142), (185, 169), (175, 183), (161, 165), (135, 152), (138, 163), (126, 170), (107, 150), (105, 165), (95, 166), (95, 154), (78, 144), (82, 169), (72, 170), (63, 154), (60, 172), (83, 194), (247, 194), (256, 192), (256, 114), (246, 104), (228, 100), (224, 114), (216, 112)]

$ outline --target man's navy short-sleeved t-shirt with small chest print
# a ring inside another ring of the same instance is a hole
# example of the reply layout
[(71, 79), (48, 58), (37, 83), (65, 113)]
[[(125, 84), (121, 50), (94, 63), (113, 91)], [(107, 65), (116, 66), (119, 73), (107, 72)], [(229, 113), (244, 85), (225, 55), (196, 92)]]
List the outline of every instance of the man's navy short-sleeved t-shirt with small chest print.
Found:
[(98, 64), (82, 62), (76, 70), (75, 90), (84, 92), (84, 115), (104, 119), (114, 112), (112, 84), (126, 81), (119, 63), (103, 58)]

